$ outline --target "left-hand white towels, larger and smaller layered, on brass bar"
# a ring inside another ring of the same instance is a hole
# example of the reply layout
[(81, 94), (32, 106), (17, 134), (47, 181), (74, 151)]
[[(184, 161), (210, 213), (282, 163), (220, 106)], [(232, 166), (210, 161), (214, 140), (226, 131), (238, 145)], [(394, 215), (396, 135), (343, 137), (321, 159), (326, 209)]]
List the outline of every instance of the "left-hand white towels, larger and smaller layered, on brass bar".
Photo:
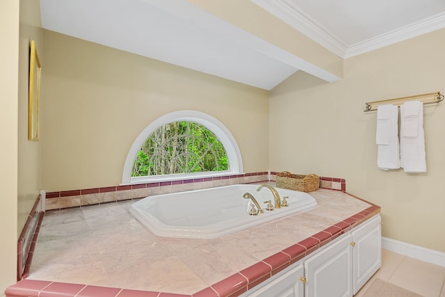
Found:
[(382, 170), (400, 168), (398, 150), (398, 108), (395, 105), (382, 105), (377, 109), (377, 166)]

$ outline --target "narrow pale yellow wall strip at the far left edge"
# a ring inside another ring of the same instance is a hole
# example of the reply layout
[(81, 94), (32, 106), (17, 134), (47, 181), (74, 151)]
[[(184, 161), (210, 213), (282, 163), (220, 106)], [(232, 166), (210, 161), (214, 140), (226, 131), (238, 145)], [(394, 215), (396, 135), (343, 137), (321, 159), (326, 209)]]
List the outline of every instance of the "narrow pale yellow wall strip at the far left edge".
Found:
[(0, 1), (0, 296), (17, 267), (17, 89), (19, 2)]

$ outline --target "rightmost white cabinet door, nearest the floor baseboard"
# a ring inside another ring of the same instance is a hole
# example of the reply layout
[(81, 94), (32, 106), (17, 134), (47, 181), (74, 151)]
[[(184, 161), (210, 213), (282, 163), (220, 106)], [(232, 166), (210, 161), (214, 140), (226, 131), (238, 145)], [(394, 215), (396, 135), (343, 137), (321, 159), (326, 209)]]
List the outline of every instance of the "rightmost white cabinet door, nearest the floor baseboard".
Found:
[(382, 236), (380, 216), (351, 232), (353, 234), (354, 294), (382, 266)]

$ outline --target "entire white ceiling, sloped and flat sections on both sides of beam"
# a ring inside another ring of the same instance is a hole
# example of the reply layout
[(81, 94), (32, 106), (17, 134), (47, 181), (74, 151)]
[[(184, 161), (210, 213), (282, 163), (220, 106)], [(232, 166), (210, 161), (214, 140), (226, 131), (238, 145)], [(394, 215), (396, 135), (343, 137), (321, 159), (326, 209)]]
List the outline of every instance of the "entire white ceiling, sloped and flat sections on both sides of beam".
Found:
[[(240, 0), (246, 1), (246, 0)], [(445, 27), (445, 0), (251, 0), (342, 58)], [(270, 90), (339, 77), (184, 0), (40, 0), (42, 27)]]

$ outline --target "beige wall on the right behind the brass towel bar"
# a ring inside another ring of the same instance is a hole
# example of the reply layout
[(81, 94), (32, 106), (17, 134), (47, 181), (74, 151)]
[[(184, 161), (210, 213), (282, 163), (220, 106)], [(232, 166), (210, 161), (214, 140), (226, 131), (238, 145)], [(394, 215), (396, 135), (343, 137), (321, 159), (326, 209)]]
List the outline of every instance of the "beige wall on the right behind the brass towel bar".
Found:
[(445, 93), (445, 30), (345, 61), (325, 83), (297, 72), (270, 93), (270, 168), (346, 179), (348, 192), (382, 207), (383, 236), (445, 252), (445, 103), (424, 108), (428, 172), (376, 166), (376, 113), (364, 102)]

